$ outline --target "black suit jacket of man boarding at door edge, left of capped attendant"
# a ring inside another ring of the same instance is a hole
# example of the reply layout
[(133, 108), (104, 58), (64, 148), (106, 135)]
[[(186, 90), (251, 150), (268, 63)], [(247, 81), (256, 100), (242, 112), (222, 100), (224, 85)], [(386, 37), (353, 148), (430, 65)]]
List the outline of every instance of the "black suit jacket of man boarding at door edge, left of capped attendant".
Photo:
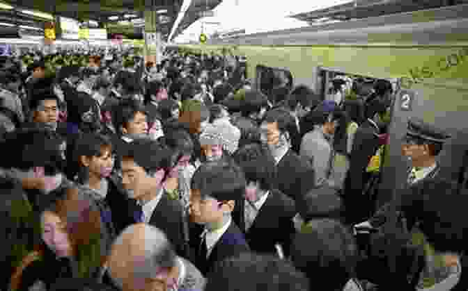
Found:
[(361, 195), (368, 176), (366, 168), (379, 147), (378, 134), (379, 130), (368, 120), (357, 128), (352, 145), (350, 169), (345, 182), (347, 194)]

